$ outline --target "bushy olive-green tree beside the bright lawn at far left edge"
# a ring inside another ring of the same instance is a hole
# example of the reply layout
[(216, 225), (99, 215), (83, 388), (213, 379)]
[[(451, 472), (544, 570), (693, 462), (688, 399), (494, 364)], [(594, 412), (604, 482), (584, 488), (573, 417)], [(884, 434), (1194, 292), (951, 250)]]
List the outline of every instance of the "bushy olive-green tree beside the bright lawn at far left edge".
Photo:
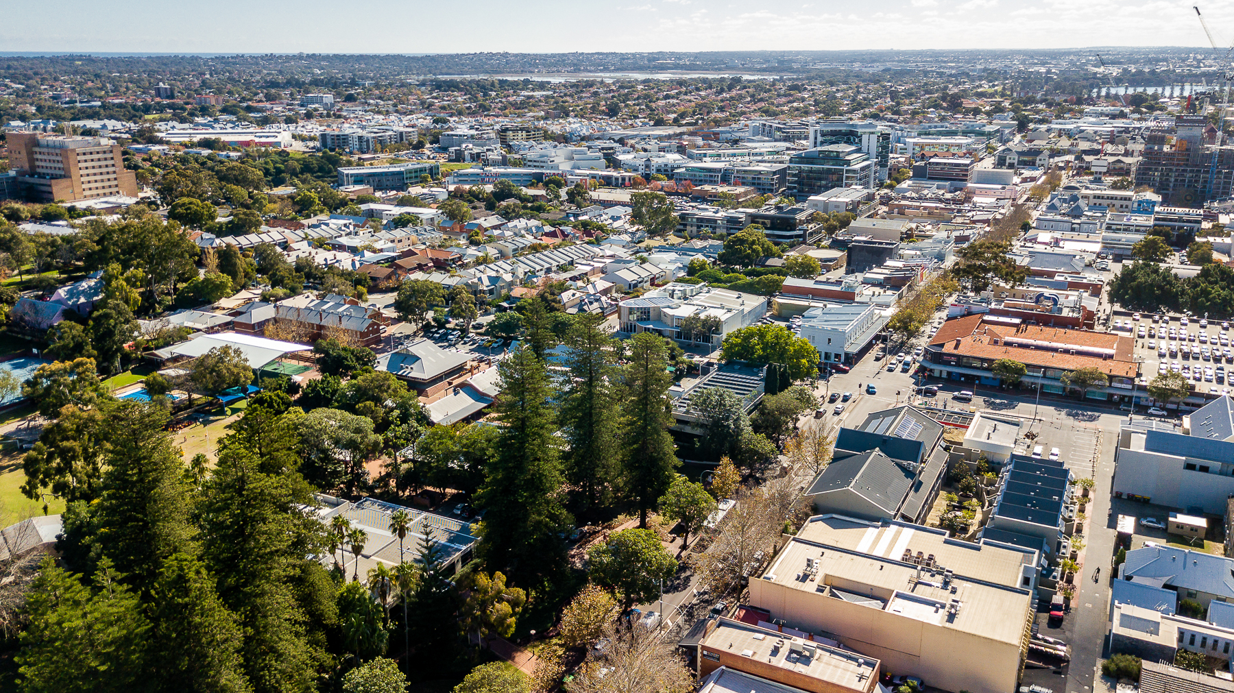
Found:
[(72, 404), (43, 428), (38, 443), (22, 457), (23, 496), (41, 501), (49, 492), (65, 502), (90, 502), (102, 491), (102, 457), (107, 448), (104, 413), (109, 407), (80, 409)]

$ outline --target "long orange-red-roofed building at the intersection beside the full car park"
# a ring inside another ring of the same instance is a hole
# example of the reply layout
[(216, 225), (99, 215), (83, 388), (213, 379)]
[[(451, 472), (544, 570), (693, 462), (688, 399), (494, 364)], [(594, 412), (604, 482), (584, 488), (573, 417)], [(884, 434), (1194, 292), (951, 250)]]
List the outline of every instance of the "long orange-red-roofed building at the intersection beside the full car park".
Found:
[[(1053, 300), (1049, 293), (1045, 296)], [(1120, 402), (1133, 395), (1139, 372), (1139, 364), (1132, 356), (1134, 342), (1132, 337), (1029, 324), (1018, 317), (983, 313), (943, 323), (926, 346), (922, 363), (934, 377), (998, 385), (1000, 380), (991, 372), (995, 361), (1012, 359), (1028, 367), (1022, 383), (1055, 393), (1066, 391), (1060, 381), (1062, 374), (1093, 367), (1107, 376), (1109, 386), (1093, 387), (1086, 397)]]

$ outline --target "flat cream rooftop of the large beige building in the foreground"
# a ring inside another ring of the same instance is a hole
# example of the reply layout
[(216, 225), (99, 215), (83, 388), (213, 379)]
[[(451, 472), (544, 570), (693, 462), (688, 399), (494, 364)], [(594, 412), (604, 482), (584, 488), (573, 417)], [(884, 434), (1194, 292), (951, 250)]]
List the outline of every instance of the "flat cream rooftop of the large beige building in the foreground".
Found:
[(1018, 644), (1032, 608), (1023, 566), (1035, 561), (938, 529), (829, 514), (811, 518), (763, 580)]

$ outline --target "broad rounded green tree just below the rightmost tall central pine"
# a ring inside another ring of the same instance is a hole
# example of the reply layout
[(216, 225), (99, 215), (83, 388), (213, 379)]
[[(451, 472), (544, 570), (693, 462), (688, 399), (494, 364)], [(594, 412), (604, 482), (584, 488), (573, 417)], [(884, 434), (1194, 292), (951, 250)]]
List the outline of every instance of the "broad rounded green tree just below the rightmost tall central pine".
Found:
[(659, 593), (660, 581), (677, 572), (677, 562), (649, 529), (623, 529), (587, 551), (587, 573), (598, 584), (616, 589), (623, 608)]

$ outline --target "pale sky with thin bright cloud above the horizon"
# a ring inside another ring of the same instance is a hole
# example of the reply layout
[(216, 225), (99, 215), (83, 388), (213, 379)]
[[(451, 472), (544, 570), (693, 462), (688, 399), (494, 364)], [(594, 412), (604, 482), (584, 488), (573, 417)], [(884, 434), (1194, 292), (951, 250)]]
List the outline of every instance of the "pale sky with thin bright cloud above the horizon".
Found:
[[(561, 53), (1208, 48), (1195, 0), (86, 0), (17, 2), (0, 51)], [(1223, 46), (1234, 0), (1198, 0)]]

